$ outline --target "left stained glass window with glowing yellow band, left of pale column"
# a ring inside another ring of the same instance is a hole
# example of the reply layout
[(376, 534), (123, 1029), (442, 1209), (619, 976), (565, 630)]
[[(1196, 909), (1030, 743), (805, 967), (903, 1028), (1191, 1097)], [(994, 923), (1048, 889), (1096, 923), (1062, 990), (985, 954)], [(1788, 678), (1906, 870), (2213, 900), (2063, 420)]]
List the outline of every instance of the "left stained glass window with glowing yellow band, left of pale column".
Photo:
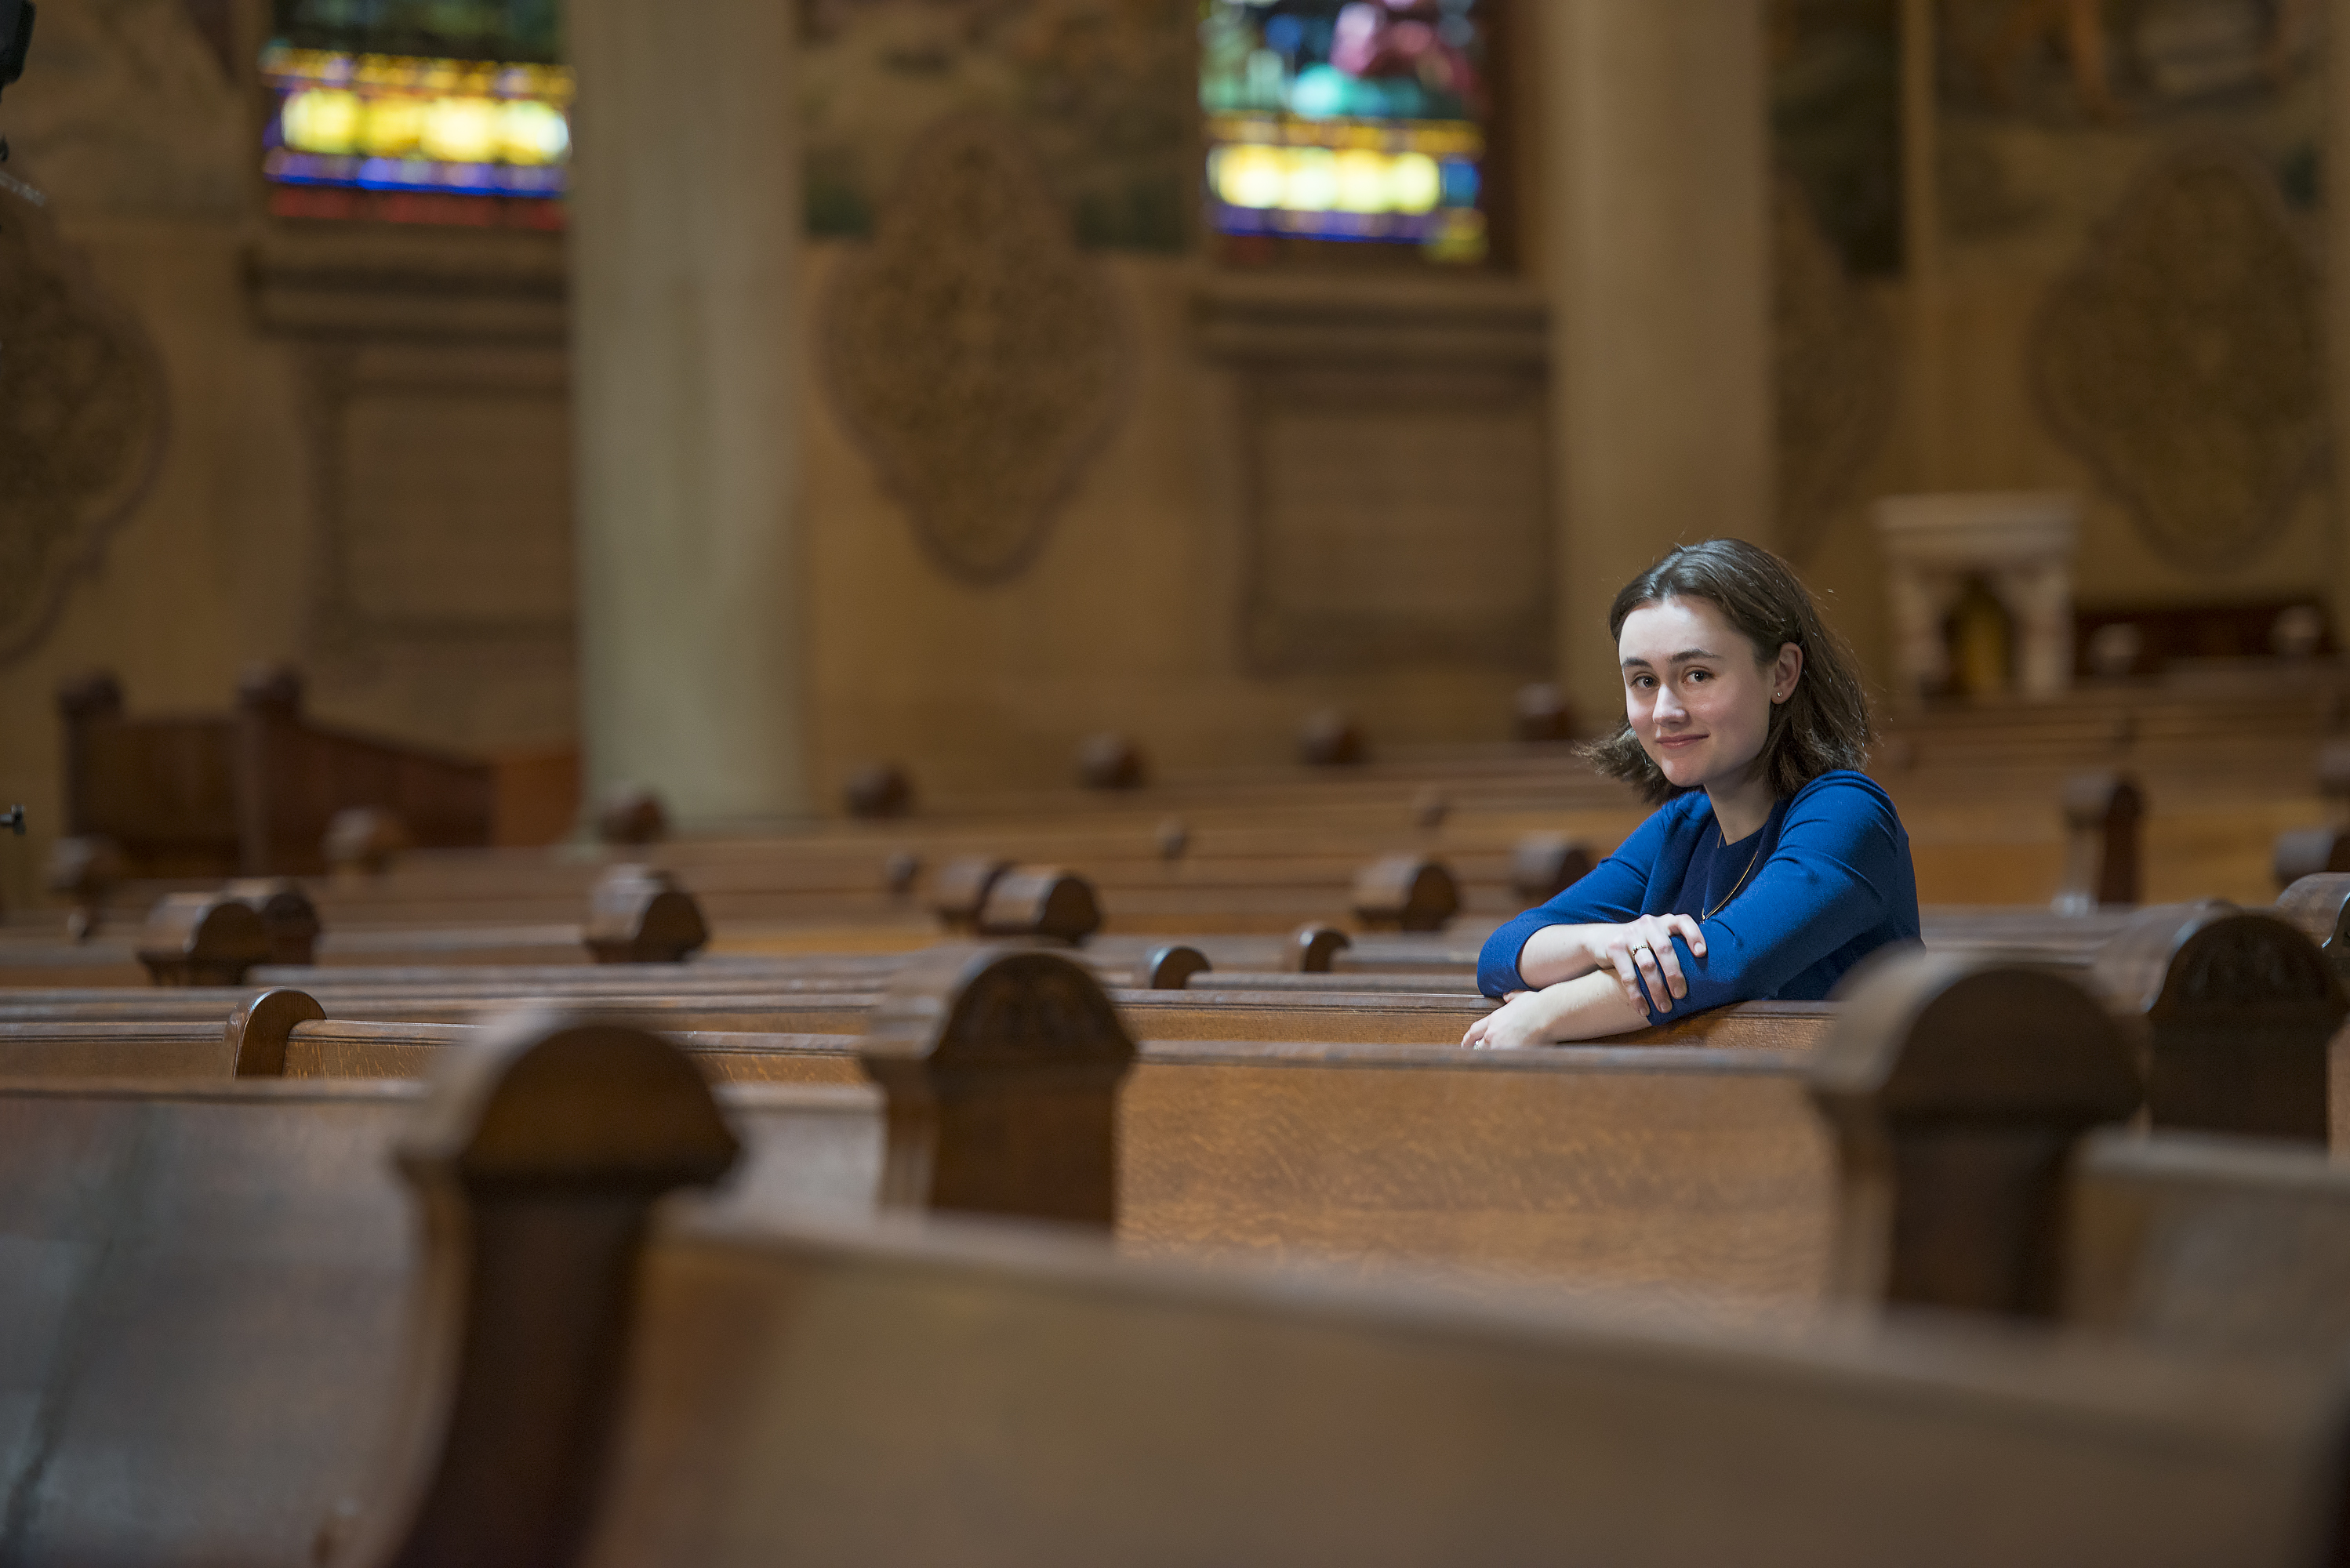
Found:
[(273, 24), (275, 214), (562, 228), (557, 0), (275, 0)]

